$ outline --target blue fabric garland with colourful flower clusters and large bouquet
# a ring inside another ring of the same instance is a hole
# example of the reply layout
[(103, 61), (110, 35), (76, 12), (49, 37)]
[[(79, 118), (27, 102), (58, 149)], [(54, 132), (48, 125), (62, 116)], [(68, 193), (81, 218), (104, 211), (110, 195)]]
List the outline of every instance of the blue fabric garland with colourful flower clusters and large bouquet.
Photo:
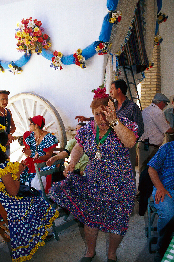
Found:
[[(104, 55), (109, 53), (108, 42), (111, 35), (111, 30), (113, 24), (121, 22), (122, 13), (116, 11), (117, 3), (119, 0), (107, 0), (107, 8), (109, 13), (105, 16), (103, 20), (102, 30), (100, 32), (99, 41), (93, 42), (91, 45), (85, 49), (78, 48), (77, 51), (72, 55), (63, 55), (58, 51), (47, 52), (47, 49), (51, 47), (50, 37), (44, 33), (44, 28), (41, 27), (42, 22), (37, 19), (27, 18), (22, 19), (21, 23), (17, 24), (15, 38), (18, 40), (17, 46), (18, 51), (25, 52), (24, 56), (18, 61), (4, 62), (0, 61), (0, 72), (4, 72), (4, 68), (10, 68), (9, 72), (13, 74), (20, 74), (22, 72), (21, 67), (25, 65), (30, 57), (31, 53), (41, 54), (43, 57), (51, 61), (50, 67), (53, 69), (62, 69), (62, 64), (76, 64), (81, 68), (86, 68), (86, 59), (92, 57), (96, 52), (98, 55)], [(162, 16), (162, 17), (161, 17)], [(166, 21), (165, 14), (159, 14), (159, 23)], [(132, 18), (131, 23), (133, 22)], [(162, 21), (162, 22), (161, 22)], [(124, 51), (124, 45), (129, 40), (131, 34), (132, 25), (127, 32), (127, 35), (122, 43), (120, 49), (116, 52), (119, 56)], [(159, 39), (159, 43), (162, 42), (162, 38)], [(155, 45), (159, 44), (155, 42)], [(80, 52), (79, 52), (80, 50)]]

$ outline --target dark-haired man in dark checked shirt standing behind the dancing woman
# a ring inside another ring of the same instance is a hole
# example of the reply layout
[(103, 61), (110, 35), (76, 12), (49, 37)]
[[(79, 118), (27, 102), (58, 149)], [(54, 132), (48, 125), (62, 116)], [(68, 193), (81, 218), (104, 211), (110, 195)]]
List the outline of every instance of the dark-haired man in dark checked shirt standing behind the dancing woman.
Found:
[[(131, 121), (135, 122), (138, 125), (138, 136), (144, 132), (144, 124), (143, 118), (141, 114), (141, 110), (138, 105), (134, 103), (132, 100), (129, 100), (126, 96), (127, 85), (126, 82), (122, 79), (116, 80), (111, 83), (110, 95), (113, 99), (116, 99), (115, 104), (117, 107), (116, 115), (117, 117), (127, 117)], [(93, 117), (84, 117), (84, 116), (76, 116), (75, 119), (78, 118), (78, 122), (81, 121), (90, 121), (93, 120)], [(129, 149), (130, 151), (130, 159), (132, 164), (132, 170), (134, 174), (134, 181), (136, 177), (135, 164), (136, 164), (136, 148)]]

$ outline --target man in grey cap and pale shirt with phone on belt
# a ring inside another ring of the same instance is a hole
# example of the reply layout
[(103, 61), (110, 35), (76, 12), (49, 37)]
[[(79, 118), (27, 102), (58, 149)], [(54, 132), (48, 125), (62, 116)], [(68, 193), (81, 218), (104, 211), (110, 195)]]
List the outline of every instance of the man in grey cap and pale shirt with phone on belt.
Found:
[[(162, 145), (164, 133), (172, 134), (174, 132), (174, 128), (167, 124), (162, 111), (167, 103), (170, 103), (170, 100), (165, 95), (158, 93), (154, 96), (151, 105), (142, 111), (144, 133), (139, 138), (137, 146), (139, 176)], [(136, 199), (139, 200), (139, 192)]]

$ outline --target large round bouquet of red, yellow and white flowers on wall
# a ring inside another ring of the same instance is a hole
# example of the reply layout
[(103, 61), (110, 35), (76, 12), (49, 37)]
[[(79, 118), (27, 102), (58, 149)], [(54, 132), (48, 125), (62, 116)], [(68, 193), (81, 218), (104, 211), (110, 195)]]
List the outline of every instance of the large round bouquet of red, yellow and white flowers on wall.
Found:
[(21, 20), (21, 24), (17, 23), (15, 38), (18, 39), (17, 50), (26, 52), (29, 56), (29, 50), (32, 53), (40, 54), (42, 48), (48, 49), (51, 46), (50, 38), (44, 34), (44, 28), (41, 27), (42, 22), (37, 19), (27, 18)]

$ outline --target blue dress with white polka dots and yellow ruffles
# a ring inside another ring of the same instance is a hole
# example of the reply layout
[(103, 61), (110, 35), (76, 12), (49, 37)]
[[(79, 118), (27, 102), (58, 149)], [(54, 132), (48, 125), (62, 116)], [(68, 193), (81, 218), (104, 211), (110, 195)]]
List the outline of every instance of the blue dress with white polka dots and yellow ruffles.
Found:
[(0, 202), (7, 211), (8, 227), (12, 243), (13, 262), (32, 258), (39, 246), (44, 245), (47, 228), (59, 216), (59, 212), (37, 196), (11, 196), (5, 190), (1, 177), (11, 173), (15, 179), (19, 163), (0, 163)]

